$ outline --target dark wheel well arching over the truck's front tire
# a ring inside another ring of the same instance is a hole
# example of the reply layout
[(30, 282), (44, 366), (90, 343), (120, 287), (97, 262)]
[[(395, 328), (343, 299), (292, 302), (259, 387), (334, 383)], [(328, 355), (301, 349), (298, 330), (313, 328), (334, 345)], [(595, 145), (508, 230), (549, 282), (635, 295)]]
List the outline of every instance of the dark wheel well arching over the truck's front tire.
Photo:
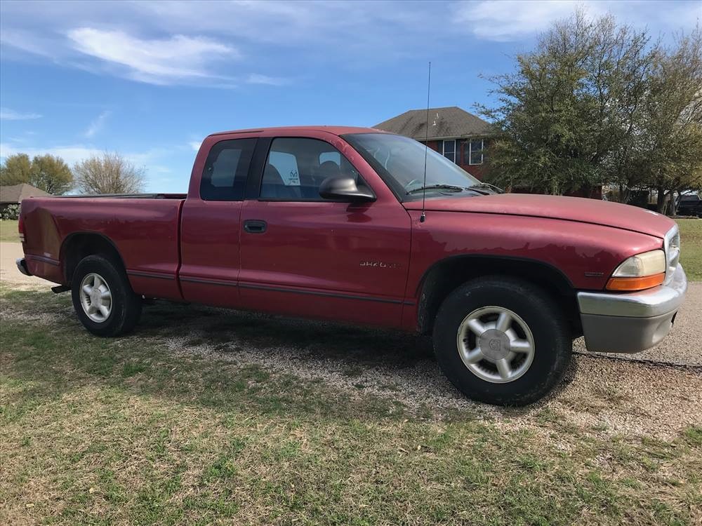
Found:
[(545, 290), (564, 309), (574, 337), (582, 334), (576, 292), (561, 271), (533, 259), (470, 255), (437, 262), (424, 275), (417, 313), (419, 332), (432, 331), (439, 307), (453, 290), (470, 279), (500, 274), (529, 281)]

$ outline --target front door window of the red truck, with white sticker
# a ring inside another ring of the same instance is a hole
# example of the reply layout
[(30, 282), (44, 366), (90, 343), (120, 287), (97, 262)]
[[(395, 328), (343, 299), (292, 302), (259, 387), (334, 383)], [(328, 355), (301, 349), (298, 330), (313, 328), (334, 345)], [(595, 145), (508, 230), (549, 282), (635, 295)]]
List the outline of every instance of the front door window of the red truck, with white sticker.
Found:
[(286, 201), (322, 201), (319, 185), (333, 175), (359, 173), (329, 142), (302, 137), (278, 137), (270, 145), (260, 196)]

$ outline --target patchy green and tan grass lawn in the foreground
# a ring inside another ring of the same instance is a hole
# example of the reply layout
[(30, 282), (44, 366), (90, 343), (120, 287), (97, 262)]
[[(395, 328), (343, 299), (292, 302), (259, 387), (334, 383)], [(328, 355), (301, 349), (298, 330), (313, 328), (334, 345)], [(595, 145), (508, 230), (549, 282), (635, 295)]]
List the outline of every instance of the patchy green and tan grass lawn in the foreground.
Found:
[[(171, 345), (202, 307), (157, 304), (135, 335), (100, 339), (67, 295), (4, 286), (0, 300), (4, 524), (702, 519), (702, 427), (658, 440), (607, 436), (548, 410), (528, 426), (470, 408), (439, 418)], [(201, 319), (216, 341), (222, 318)], [(241, 334), (265, 332), (255, 318), (227, 319)], [(273, 341), (289, 336), (315, 339)]]

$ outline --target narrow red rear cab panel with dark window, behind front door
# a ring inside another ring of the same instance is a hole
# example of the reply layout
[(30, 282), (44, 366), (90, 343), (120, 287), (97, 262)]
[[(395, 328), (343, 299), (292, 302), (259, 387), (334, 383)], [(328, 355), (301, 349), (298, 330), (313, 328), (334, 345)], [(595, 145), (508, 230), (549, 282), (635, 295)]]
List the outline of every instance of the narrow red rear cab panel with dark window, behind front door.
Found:
[(213, 144), (202, 172), (199, 199), (188, 196), (180, 220), (183, 298), (238, 306), (241, 204), (255, 138)]

